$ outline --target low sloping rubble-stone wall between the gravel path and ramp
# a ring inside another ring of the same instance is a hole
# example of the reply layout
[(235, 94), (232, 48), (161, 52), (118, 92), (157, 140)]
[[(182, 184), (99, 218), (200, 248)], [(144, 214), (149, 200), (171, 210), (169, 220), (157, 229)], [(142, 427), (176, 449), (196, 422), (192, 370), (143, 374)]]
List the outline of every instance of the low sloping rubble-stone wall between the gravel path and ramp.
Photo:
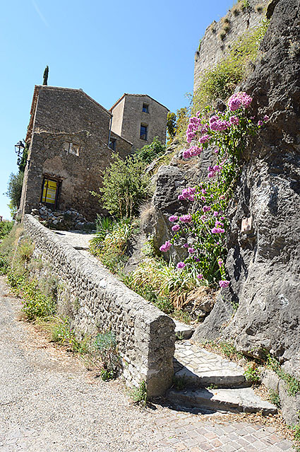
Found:
[(175, 324), (172, 318), (128, 289), (101, 265), (63, 243), (31, 215), (25, 233), (35, 242), (43, 270), (59, 278), (59, 312), (68, 311), (78, 332), (112, 330), (130, 386), (147, 383), (148, 396), (163, 395), (172, 383)]

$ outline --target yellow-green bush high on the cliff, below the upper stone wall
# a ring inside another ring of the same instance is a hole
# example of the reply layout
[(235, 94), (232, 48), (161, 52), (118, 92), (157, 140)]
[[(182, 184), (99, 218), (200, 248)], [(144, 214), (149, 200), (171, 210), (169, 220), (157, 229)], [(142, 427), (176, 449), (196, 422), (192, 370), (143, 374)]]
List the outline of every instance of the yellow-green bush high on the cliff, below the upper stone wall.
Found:
[[(218, 98), (226, 100), (229, 95), (234, 93), (236, 85), (248, 74), (248, 64), (256, 59), (260, 41), (267, 28), (268, 21), (263, 21), (257, 28), (244, 33), (234, 42), (226, 58), (212, 69), (203, 71), (198, 89), (193, 97), (193, 112), (202, 110)], [(220, 33), (222, 33), (220, 38), (224, 39), (227, 31), (223, 28)]]

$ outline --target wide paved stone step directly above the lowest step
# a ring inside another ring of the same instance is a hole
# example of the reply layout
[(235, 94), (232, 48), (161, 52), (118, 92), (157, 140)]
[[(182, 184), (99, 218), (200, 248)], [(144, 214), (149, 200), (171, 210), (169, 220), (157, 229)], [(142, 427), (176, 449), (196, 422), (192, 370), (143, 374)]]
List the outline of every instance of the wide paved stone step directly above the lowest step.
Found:
[(241, 366), (188, 340), (176, 342), (174, 377), (185, 387), (191, 388), (212, 385), (218, 388), (251, 386)]

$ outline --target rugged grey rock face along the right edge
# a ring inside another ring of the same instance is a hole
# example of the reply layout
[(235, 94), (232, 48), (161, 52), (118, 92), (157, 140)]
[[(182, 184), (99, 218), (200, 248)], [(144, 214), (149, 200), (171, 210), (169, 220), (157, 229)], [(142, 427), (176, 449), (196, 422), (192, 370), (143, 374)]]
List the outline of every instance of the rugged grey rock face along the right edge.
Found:
[[(232, 284), (193, 338), (222, 335), (247, 354), (271, 352), (299, 377), (299, 1), (277, 2), (260, 50), (243, 89), (253, 96), (253, 114), (270, 122), (246, 150), (232, 203), (226, 262)], [(249, 217), (253, 226), (241, 233)], [(232, 302), (239, 303), (233, 318)]]

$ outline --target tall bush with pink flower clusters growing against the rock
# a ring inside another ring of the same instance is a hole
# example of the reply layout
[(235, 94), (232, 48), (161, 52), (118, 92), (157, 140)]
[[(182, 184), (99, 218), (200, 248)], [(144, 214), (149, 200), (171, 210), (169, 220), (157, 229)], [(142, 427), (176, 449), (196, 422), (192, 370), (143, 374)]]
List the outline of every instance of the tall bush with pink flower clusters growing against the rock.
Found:
[(215, 164), (208, 167), (208, 180), (197, 187), (187, 187), (179, 194), (180, 200), (190, 202), (189, 212), (180, 217), (172, 215), (174, 236), (160, 250), (167, 251), (172, 244), (182, 245), (188, 250), (188, 257), (179, 262), (180, 271), (191, 272), (196, 278), (210, 284), (219, 283), (221, 288), (229, 286), (226, 279), (224, 260), (227, 256), (225, 233), (229, 226), (226, 209), (232, 197), (234, 181), (239, 175), (241, 158), (249, 135), (268, 121), (261, 122), (247, 115), (252, 98), (246, 93), (233, 94), (224, 112), (212, 112), (206, 108), (191, 117), (186, 139), (191, 147), (183, 153), (184, 158), (200, 155), (210, 146)]

